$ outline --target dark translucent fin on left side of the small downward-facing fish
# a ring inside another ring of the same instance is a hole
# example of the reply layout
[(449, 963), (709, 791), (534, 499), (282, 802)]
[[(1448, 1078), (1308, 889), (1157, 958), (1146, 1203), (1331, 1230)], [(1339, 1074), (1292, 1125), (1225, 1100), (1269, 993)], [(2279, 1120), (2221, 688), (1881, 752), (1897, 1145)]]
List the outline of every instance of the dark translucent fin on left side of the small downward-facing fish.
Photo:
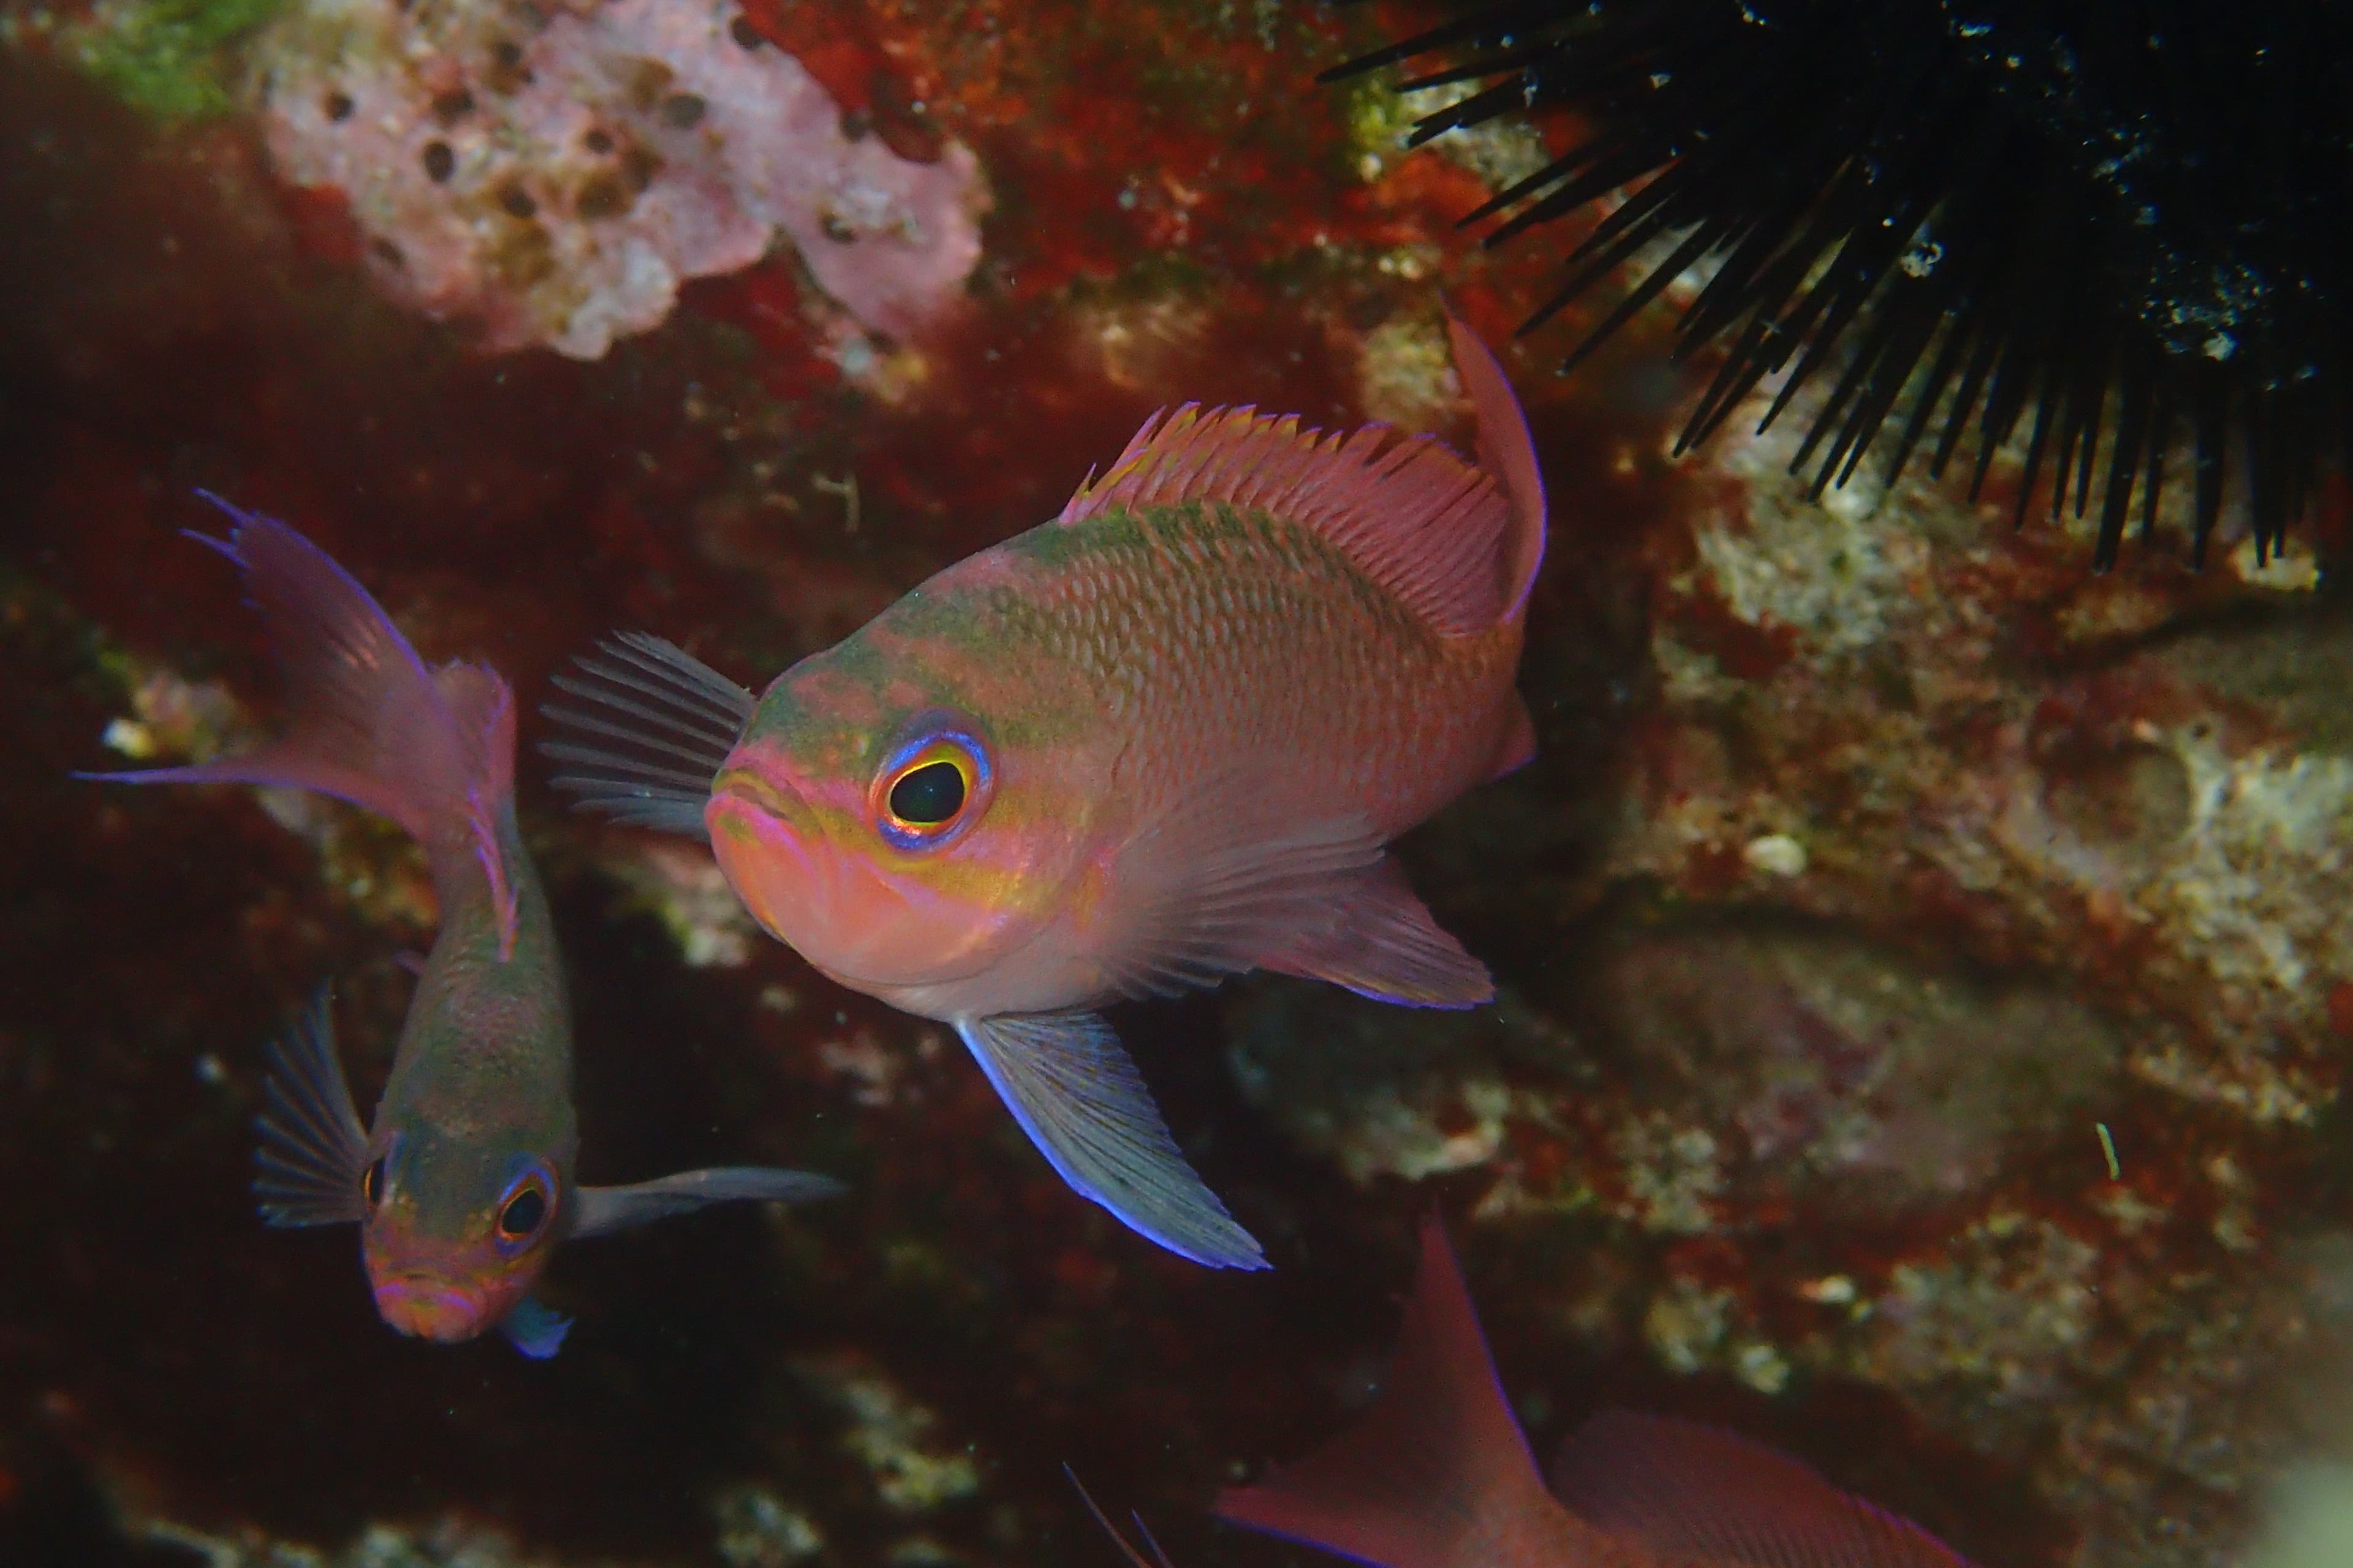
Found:
[(311, 1011), (268, 1048), (264, 1110), (254, 1117), (254, 1197), (268, 1225), (344, 1225), (367, 1213), (360, 1171), (367, 1128), (351, 1105), (334, 1056), (332, 992), (322, 985)]

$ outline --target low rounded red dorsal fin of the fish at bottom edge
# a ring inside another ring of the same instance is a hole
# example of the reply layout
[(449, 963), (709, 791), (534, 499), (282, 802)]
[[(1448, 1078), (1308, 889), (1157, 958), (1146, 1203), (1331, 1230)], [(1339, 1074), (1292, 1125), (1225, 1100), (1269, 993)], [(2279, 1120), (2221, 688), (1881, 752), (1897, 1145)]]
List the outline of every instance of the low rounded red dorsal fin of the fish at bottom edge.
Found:
[(1588, 1523), (1711, 1568), (1969, 1568), (1908, 1519), (1838, 1490), (1786, 1453), (1718, 1427), (1605, 1410), (1553, 1460)]

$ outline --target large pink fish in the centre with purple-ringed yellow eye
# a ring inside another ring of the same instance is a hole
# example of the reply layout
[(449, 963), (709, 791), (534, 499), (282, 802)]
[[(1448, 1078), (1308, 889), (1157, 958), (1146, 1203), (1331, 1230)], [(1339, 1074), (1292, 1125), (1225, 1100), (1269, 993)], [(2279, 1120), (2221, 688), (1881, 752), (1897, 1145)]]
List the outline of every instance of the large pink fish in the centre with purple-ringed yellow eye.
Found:
[(706, 835), (826, 976), (962, 1034), (1080, 1194), (1264, 1267), (1099, 1009), (1245, 969), (1475, 1006), (1384, 846), (1534, 752), (1513, 691), (1544, 487), (1459, 322), (1482, 463), (1186, 407), (1061, 515), (753, 698), (654, 637), (581, 679), (555, 783)]

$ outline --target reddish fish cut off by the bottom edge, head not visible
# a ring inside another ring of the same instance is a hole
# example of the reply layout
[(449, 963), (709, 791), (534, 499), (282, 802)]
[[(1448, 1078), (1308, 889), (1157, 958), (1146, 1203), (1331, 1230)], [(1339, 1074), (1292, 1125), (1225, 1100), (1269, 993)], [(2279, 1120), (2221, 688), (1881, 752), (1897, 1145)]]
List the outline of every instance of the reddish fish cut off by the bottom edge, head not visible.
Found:
[(1217, 1512), (1377, 1568), (1967, 1568), (1798, 1460), (1680, 1420), (1595, 1415), (1546, 1486), (1435, 1218), (1372, 1410)]

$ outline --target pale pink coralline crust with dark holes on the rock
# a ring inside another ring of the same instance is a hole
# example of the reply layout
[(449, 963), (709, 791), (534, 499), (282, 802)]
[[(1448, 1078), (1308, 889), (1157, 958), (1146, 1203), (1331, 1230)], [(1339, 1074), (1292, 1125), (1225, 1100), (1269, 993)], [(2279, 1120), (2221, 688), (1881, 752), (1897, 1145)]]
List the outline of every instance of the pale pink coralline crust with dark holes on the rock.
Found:
[(859, 322), (906, 334), (981, 254), (969, 148), (849, 139), (715, 0), (313, 0), (256, 59), (278, 169), (341, 190), (376, 282), (485, 350), (595, 360), (779, 233)]

